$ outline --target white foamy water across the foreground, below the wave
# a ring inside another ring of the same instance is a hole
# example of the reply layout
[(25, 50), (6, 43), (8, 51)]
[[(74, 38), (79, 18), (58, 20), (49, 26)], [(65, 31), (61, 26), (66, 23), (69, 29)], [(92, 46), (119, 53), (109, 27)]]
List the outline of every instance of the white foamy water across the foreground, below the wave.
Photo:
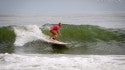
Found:
[(125, 56), (0, 54), (0, 70), (125, 70)]

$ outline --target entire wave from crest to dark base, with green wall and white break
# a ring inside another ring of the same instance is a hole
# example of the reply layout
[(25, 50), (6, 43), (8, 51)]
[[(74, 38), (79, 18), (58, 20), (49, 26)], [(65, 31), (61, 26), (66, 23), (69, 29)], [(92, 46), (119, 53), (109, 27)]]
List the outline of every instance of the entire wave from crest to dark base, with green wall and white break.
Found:
[(47, 39), (49, 26), (1, 27), (0, 53), (125, 54), (124, 30), (64, 24), (57, 40), (70, 44), (57, 45)]

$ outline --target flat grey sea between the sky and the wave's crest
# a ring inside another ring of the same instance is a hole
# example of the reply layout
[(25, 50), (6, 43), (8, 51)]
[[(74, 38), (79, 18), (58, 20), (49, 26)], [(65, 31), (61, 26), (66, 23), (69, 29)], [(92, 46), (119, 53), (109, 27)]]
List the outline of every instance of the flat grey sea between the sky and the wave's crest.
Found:
[(63, 22), (64, 24), (89, 24), (106, 28), (125, 28), (124, 12), (84, 13), (84, 14), (1, 14), (0, 26), (43, 25)]

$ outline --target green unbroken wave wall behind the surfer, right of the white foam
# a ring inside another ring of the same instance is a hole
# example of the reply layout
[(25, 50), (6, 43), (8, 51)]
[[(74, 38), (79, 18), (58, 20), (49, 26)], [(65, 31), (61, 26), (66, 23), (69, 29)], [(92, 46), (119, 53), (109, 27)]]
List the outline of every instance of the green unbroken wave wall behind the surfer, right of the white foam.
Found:
[[(48, 25), (41, 28), (42, 32), (49, 35)], [(113, 29), (105, 29), (93, 25), (68, 25), (64, 24), (61, 28), (62, 36), (58, 37), (63, 41), (125, 41), (125, 31), (113, 31)]]

